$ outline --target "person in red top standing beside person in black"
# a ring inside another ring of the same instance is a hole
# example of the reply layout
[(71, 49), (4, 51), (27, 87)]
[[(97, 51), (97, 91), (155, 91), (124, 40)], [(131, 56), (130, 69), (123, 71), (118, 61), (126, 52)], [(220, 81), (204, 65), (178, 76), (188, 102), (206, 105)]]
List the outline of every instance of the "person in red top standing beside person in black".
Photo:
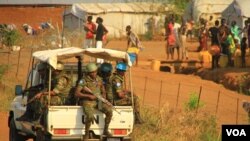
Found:
[(84, 24), (85, 40), (83, 48), (93, 48), (94, 47), (94, 34), (96, 31), (96, 25), (92, 22), (92, 16), (88, 16), (86, 24)]

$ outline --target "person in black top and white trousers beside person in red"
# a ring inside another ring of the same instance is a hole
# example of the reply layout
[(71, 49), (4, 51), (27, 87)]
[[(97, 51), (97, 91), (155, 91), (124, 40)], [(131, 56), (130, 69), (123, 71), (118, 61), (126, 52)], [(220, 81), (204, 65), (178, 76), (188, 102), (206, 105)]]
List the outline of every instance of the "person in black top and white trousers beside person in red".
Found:
[[(103, 48), (103, 38), (106, 36), (108, 33), (108, 30), (105, 28), (103, 25), (103, 19), (101, 17), (98, 17), (96, 19), (96, 23), (98, 24), (97, 29), (96, 29), (96, 48)], [(105, 37), (106, 38), (106, 37)], [(104, 60), (97, 58), (96, 63), (101, 64), (103, 63)]]

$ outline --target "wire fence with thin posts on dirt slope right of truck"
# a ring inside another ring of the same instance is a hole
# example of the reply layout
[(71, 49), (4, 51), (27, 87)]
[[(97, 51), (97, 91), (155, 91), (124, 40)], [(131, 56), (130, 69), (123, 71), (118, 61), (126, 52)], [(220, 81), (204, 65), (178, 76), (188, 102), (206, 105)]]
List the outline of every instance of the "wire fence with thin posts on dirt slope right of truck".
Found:
[[(144, 79), (144, 83), (142, 83)], [(198, 96), (199, 111), (216, 116), (221, 124), (247, 124), (248, 116), (242, 108), (244, 98), (233, 91), (214, 90), (209, 86), (167, 82), (160, 79), (148, 77), (133, 78), (134, 92), (141, 98), (142, 105), (150, 105), (156, 108), (163, 107), (168, 103), (170, 108), (185, 110), (192, 94)]]

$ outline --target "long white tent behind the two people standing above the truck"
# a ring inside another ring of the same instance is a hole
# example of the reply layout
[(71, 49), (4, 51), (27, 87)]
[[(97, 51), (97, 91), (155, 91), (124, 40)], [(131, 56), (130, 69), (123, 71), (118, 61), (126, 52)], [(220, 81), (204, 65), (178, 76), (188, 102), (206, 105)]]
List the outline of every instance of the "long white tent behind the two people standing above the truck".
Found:
[(152, 17), (164, 22), (161, 13), (169, 9), (162, 3), (76, 3), (65, 15), (65, 27), (68, 29), (82, 29), (82, 22), (88, 15), (103, 18), (103, 25), (108, 29), (109, 37), (120, 38), (124, 36), (125, 27), (131, 25), (137, 34), (148, 31), (149, 21)]

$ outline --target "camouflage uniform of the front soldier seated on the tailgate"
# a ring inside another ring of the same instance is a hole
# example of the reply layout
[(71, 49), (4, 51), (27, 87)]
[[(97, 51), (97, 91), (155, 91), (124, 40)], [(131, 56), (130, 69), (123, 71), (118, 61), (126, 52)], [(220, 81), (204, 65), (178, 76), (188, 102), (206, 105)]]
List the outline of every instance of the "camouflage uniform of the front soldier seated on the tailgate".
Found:
[[(80, 80), (78, 89), (83, 89), (86, 86), (93, 93), (101, 95), (102, 85), (102, 79), (99, 76), (97, 76), (96, 80), (93, 80), (90, 76), (86, 76), (85, 79)], [(90, 93), (90, 95), (92, 94)], [(83, 112), (86, 114), (85, 124), (87, 125), (87, 127), (90, 127), (91, 122), (94, 120), (94, 111), (97, 107), (97, 101), (81, 98), (80, 103), (83, 106)], [(108, 126), (113, 116), (112, 108), (103, 103), (102, 107), (100, 107), (99, 110), (105, 113), (105, 125)]]

